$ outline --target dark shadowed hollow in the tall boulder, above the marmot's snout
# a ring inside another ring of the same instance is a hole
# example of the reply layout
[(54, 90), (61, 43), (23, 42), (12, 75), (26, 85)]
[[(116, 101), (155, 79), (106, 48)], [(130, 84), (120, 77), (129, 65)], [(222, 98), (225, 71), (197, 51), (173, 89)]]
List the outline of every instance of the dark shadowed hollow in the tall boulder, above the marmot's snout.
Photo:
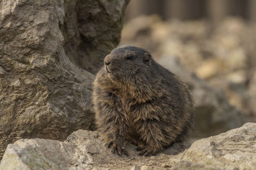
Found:
[(77, 66), (97, 73), (102, 60), (120, 41), (129, 0), (68, 0), (60, 29), (65, 52)]

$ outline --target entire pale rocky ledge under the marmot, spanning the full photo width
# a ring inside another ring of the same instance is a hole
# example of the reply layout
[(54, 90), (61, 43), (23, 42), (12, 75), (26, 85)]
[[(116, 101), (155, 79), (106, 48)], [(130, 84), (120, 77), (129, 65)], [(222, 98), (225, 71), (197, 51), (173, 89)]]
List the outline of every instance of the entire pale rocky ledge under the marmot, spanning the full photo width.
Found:
[[(189, 147), (189, 148), (188, 148)], [(8, 145), (0, 169), (254, 169), (256, 124), (247, 123), (218, 136), (200, 139), (191, 146), (175, 143), (151, 157), (113, 155), (98, 132), (79, 130), (66, 141), (20, 139)]]

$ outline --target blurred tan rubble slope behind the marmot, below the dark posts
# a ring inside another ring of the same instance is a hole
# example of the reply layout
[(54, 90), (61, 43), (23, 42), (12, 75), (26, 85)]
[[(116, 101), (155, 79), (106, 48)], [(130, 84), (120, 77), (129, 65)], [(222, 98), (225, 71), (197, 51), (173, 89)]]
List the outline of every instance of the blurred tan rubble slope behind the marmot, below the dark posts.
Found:
[[(212, 25), (205, 20), (163, 21), (158, 15), (140, 16), (125, 25), (121, 44), (148, 49), (159, 63), (180, 74), (195, 97), (196, 131), (207, 131), (200, 132), (207, 136), (218, 128), (223, 130), (223, 123), (238, 125), (245, 117), (256, 121), (255, 26), (236, 17)], [(183, 69), (177, 68), (180, 65)], [(193, 83), (183, 75), (186, 71), (195, 73), (191, 76)], [(198, 88), (205, 90), (198, 92)], [(219, 118), (218, 110), (222, 114)], [(243, 118), (231, 110), (237, 110)], [(213, 129), (209, 129), (211, 126)]]

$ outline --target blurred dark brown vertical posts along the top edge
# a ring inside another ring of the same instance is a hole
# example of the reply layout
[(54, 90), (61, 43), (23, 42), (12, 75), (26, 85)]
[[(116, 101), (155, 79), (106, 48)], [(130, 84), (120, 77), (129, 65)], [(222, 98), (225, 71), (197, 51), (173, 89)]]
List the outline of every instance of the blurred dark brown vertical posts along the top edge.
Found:
[(130, 20), (138, 15), (157, 13), (163, 20), (207, 18), (218, 24), (226, 16), (255, 21), (255, 8), (255, 0), (131, 0), (126, 17)]

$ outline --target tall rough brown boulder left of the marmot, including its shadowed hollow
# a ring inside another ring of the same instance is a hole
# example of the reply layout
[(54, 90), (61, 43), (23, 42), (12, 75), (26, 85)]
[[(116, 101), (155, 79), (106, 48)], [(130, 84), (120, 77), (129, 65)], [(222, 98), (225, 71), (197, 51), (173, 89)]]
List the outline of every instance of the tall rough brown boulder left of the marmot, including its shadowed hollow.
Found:
[(0, 1), (0, 159), (20, 138), (62, 140), (93, 129), (92, 73), (118, 43), (126, 5)]

